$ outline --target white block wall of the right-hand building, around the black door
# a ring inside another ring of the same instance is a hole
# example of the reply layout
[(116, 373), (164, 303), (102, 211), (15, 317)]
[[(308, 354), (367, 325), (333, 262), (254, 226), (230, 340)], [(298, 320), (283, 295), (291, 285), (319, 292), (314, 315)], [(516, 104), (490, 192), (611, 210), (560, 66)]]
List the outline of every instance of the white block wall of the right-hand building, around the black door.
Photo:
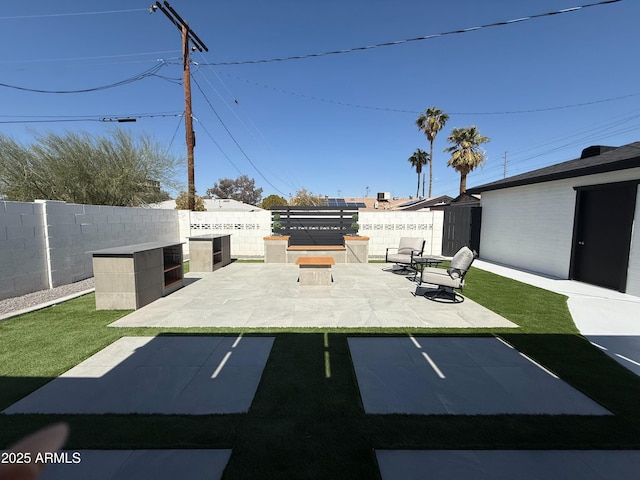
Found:
[[(640, 179), (640, 168), (482, 194), (483, 259), (569, 278), (576, 205), (574, 187)], [(640, 208), (636, 206), (627, 293), (640, 295)], [(603, 252), (606, 255), (606, 252)]]

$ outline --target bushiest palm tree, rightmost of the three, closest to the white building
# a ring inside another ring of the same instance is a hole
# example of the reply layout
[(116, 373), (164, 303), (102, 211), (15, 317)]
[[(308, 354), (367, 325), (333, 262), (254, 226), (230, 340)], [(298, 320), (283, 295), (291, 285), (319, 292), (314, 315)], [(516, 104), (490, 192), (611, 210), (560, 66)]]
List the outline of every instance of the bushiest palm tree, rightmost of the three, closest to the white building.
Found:
[(445, 148), (451, 152), (447, 166), (453, 167), (460, 173), (460, 193), (467, 190), (467, 174), (485, 161), (485, 152), (480, 145), (491, 139), (480, 135), (477, 127), (454, 128), (447, 142), (454, 145)]

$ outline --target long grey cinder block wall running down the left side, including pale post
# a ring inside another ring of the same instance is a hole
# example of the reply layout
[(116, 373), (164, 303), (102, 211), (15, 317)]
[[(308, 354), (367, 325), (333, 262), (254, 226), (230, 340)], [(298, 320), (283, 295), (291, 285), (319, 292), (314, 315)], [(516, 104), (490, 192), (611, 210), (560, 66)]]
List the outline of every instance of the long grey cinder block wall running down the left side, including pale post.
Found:
[(93, 276), (88, 251), (179, 239), (176, 210), (0, 202), (0, 299)]

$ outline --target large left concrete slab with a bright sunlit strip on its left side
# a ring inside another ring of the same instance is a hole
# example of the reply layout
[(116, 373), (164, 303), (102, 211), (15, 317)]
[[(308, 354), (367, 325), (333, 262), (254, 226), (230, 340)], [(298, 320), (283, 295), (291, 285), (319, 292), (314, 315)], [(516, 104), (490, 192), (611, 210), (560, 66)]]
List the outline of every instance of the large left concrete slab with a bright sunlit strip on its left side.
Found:
[(123, 337), (5, 413), (246, 412), (272, 345), (272, 337)]

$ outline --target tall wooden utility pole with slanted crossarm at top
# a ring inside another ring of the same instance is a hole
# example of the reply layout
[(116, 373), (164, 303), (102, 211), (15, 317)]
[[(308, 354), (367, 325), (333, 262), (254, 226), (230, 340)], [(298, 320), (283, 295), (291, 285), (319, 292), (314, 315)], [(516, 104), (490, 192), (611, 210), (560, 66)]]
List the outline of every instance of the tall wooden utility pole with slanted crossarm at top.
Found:
[[(183, 77), (184, 77), (184, 126), (186, 131), (187, 141), (187, 182), (188, 192), (187, 200), (189, 210), (194, 211), (196, 209), (196, 186), (195, 186), (195, 169), (194, 169), (194, 156), (193, 148), (195, 147), (195, 134), (193, 132), (193, 112), (191, 109), (191, 60), (189, 54), (191, 49), (197, 49), (198, 51), (208, 52), (207, 46), (198, 38), (196, 33), (189, 28), (189, 24), (182, 19), (182, 17), (176, 12), (169, 2), (166, 0), (161, 4), (156, 2), (151, 6), (150, 11), (155, 12), (160, 10), (171, 20), (180, 33), (182, 34), (182, 59), (183, 59)], [(189, 42), (193, 44), (193, 47), (189, 47)]]

